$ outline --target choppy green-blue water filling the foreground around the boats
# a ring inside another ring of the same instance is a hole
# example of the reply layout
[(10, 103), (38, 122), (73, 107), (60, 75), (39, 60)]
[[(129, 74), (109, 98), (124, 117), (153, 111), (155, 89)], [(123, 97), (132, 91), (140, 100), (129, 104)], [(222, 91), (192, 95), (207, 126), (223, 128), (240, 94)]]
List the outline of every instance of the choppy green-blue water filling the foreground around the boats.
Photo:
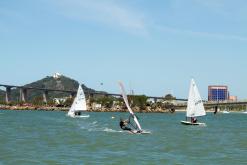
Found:
[(0, 111), (0, 164), (247, 164), (247, 114), (208, 113), (206, 127), (181, 125), (182, 112), (138, 114), (149, 135), (122, 132), (127, 113), (65, 114)]

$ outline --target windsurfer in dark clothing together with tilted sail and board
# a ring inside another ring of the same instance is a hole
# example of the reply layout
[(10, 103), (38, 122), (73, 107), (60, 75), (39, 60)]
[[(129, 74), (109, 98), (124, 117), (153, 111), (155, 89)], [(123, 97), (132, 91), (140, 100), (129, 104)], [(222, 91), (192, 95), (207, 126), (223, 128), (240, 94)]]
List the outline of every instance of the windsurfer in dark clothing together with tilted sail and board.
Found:
[[(136, 117), (136, 115), (134, 114), (134, 112), (132, 111), (132, 109), (130, 108), (129, 102), (128, 102), (128, 98), (124, 89), (124, 86), (121, 82), (119, 82), (119, 86), (122, 92), (122, 96), (125, 102), (125, 105), (127, 106), (127, 109), (130, 113), (129, 119), (128, 120), (122, 120), (120, 119), (120, 127), (123, 130), (128, 131), (129, 133), (132, 134), (150, 134), (151, 132), (149, 131), (145, 131), (141, 128), (141, 125)], [(133, 121), (132, 121), (133, 120)], [(129, 127), (127, 127), (129, 126)]]

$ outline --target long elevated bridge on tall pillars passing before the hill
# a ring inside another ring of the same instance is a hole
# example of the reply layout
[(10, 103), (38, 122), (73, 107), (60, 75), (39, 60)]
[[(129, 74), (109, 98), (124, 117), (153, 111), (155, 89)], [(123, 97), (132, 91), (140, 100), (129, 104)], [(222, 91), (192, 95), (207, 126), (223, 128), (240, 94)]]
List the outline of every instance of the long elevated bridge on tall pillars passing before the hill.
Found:
[[(43, 92), (43, 101), (47, 103), (48, 99), (48, 93), (49, 92), (63, 92), (63, 93), (69, 93), (70, 97), (75, 96), (77, 91), (74, 90), (61, 90), (61, 89), (49, 89), (49, 88), (38, 88), (38, 87), (27, 87), (27, 86), (18, 86), (18, 85), (8, 85), (8, 84), (0, 84), (0, 87), (6, 88), (5, 93), (5, 101), (6, 103), (11, 102), (11, 89), (17, 88), (20, 90), (20, 97), (19, 100), (26, 102), (27, 101), (27, 91), (28, 90), (40, 90)], [(106, 92), (85, 92), (86, 95), (93, 97), (94, 95), (101, 95), (101, 96), (114, 96), (114, 97), (122, 97), (121, 94), (115, 94), (115, 93), (106, 93)], [(155, 102), (157, 100), (164, 99), (164, 97), (156, 97), (156, 96), (147, 96), (148, 99), (153, 99)], [(175, 99), (178, 101), (187, 101), (186, 99)]]

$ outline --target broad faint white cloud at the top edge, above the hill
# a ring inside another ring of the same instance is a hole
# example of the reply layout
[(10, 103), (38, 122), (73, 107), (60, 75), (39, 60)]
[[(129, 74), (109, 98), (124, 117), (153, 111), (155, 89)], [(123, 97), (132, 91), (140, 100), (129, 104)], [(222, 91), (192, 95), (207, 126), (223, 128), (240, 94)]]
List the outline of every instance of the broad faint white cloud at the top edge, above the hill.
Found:
[(144, 16), (114, 0), (63, 0), (56, 3), (70, 18), (99, 22), (134, 34), (147, 34)]

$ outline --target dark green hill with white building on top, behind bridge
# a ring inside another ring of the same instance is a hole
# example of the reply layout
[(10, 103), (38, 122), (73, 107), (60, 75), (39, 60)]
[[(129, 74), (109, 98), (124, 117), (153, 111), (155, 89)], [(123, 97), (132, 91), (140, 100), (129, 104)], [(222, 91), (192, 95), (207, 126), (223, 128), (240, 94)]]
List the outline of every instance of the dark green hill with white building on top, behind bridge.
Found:
[[(69, 77), (61, 75), (57, 78), (54, 76), (47, 76), (41, 80), (32, 82), (30, 84), (26, 84), (24, 86), (25, 87), (37, 87), (37, 88), (76, 91), (78, 86), (79, 86), (79, 83), (76, 80), (73, 80)], [(82, 84), (82, 88), (83, 88), (85, 94), (88, 92), (95, 92), (94, 89), (88, 88), (84, 84)], [(42, 97), (43, 96), (42, 92), (43, 91), (33, 90), (33, 89), (27, 90), (27, 101), (31, 101), (35, 98)], [(63, 93), (63, 92), (49, 92), (48, 93), (48, 99), (68, 97), (69, 95), (70, 95), (69, 93)], [(19, 89), (13, 88), (11, 90), (11, 100), (12, 101), (19, 101), (19, 96), (20, 96)], [(5, 99), (5, 91), (0, 90), (0, 99), (1, 100)]]

